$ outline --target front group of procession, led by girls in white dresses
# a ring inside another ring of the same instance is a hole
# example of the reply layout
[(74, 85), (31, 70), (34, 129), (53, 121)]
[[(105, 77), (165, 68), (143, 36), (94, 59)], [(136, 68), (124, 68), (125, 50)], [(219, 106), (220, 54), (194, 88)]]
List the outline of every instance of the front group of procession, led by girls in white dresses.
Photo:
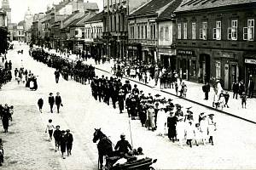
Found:
[(168, 138), (173, 142), (179, 141), (183, 145), (183, 140), (187, 139), (187, 144), (192, 147), (191, 141), (195, 139), (195, 144), (199, 140), (206, 144), (207, 138), (213, 144), (213, 136), (216, 130), (216, 122), (213, 114), (193, 114), (190, 108), (182, 110), (182, 106), (172, 103), (172, 99), (160, 98), (160, 94), (144, 94), (135, 84), (131, 88), (129, 81), (125, 84), (117, 77), (95, 77), (90, 84), (91, 93), (100, 102), (110, 105), (111, 99), (113, 108), (119, 105), (119, 113), (126, 109), (131, 120), (140, 120), (143, 127), (157, 132), (160, 136), (168, 133)]

